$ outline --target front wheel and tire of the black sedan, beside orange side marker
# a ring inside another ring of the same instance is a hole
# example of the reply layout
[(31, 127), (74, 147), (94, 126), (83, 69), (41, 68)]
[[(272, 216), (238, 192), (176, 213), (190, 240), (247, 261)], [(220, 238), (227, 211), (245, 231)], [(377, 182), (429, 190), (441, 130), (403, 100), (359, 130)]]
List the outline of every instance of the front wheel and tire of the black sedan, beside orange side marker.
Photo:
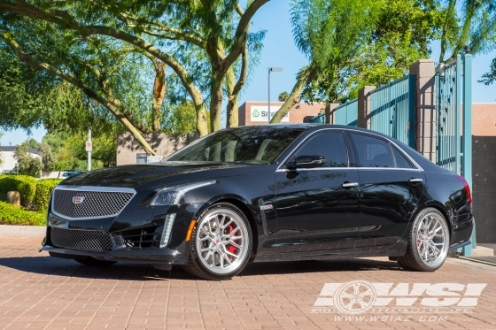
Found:
[[(231, 203), (215, 204), (198, 217), (184, 268), (200, 279), (229, 280), (248, 263), (252, 241), (252, 228), (244, 213)], [(198, 247), (204, 250), (198, 251)]]

